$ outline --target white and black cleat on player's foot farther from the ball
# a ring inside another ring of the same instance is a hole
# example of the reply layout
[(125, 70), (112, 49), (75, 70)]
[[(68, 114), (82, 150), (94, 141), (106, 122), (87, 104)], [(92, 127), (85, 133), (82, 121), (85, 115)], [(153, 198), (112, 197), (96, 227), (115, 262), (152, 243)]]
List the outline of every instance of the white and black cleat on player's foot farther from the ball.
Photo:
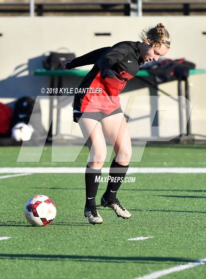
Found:
[(122, 217), (123, 219), (128, 219), (131, 217), (129, 211), (120, 204), (118, 199), (116, 199), (114, 202), (107, 202), (106, 199), (102, 197), (101, 205), (103, 205), (103, 207), (108, 206), (112, 208), (114, 212), (117, 214), (117, 217)]

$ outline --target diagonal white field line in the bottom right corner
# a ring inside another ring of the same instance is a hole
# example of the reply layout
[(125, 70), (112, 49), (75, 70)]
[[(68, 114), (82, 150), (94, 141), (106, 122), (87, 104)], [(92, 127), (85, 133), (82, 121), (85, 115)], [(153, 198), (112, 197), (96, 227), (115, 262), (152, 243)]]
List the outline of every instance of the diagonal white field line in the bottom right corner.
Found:
[(174, 266), (168, 269), (163, 269), (163, 270), (159, 270), (159, 271), (155, 271), (151, 274), (147, 274), (141, 277), (136, 277), (134, 279), (156, 279), (159, 277), (162, 277), (164, 275), (173, 273), (173, 272), (177, 272), (177, 271), (181, 271), (184, 269), (188, 269), (188, 268), (193, 268), (197, 265), (201, 265), (201, 264), (206, 264), (206, 258), (205, 259), (201, 259), (195, 262), (188, 262), (188, 264), (182, 264), (182, 265), (178, 265), (178, 266)]

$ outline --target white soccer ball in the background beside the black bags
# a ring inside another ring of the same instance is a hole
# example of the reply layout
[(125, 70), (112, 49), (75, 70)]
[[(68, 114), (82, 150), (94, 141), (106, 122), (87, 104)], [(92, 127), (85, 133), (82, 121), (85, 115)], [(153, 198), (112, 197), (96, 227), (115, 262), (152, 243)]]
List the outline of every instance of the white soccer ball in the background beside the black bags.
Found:
[(31, 125), (26, 125), (24, 122), (16, 124), (11, 130), (11, 136), (16, 141), (28, 141), (33, 133)]

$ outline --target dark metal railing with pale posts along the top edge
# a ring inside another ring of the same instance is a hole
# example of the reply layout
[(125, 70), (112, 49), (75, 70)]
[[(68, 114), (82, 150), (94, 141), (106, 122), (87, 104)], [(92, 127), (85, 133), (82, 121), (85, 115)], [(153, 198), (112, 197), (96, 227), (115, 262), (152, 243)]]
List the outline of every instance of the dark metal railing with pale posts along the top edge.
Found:
[(181, 13), (185, 16), (191, 12), (206, 13), (206, 1), (201, 0), (116, 0), (116, 1), (53, 1), (53, 2), (1, 2), (0, 13), (29, 13), (30, 16), (43, 16), (46, 13), (69, 14), (123, 14), (125, 16), (142, 16), (144, 14)]

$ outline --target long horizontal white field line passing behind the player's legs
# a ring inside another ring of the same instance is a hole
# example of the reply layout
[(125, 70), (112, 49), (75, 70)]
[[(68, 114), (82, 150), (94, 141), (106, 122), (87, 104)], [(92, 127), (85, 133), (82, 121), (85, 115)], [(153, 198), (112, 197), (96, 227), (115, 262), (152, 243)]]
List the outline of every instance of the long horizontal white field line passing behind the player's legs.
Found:
[[(31, 167), (31, 168), (1, 168), (1, 174), (31, 173), (31, 174), (83, 174), (86, 168), (72, 167)], [(109, 173), (109, 168), (102, 168), (102, 173)], [(132, 168), (128, 170), (130, 174), (206, 174), (206, 168)]]

